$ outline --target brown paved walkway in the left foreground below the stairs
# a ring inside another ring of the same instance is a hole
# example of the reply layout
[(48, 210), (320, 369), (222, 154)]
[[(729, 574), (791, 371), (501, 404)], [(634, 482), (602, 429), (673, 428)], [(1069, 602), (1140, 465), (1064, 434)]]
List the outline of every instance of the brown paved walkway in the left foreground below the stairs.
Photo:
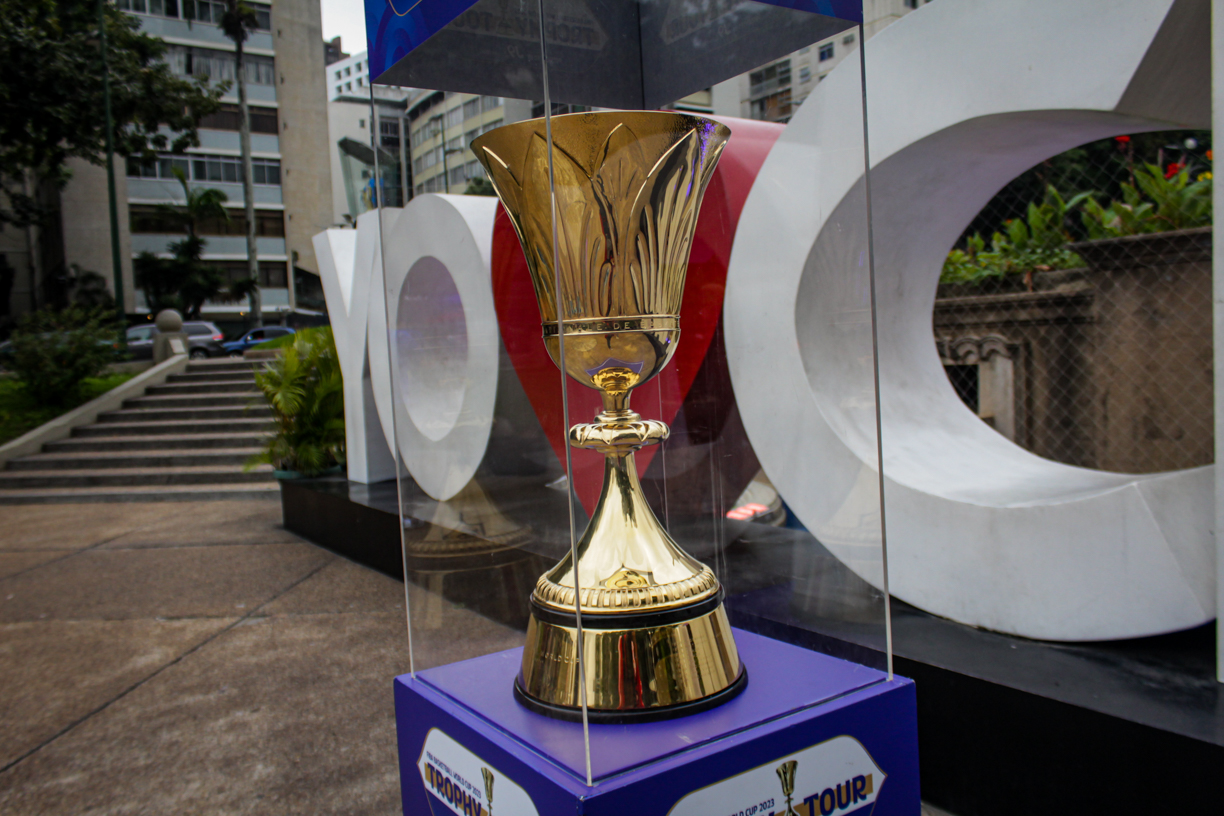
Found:
[(0, 506), (0, 814), (399, 812), (403, 585), (279, 525)]

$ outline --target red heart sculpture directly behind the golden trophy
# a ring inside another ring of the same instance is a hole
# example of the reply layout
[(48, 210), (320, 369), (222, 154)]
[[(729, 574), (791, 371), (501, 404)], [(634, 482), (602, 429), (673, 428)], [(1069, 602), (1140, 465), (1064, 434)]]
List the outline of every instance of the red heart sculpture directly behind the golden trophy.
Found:
[[(749, 119), (718, 117), (718, 121), (731, 128), (731, 139), (706, 187), (698, 217), (681, 303), (681, 343), (671, 365), (633, 393), (635, 411), (667, 423), (684, 404), (718, 329), (739, 214), (765, 157), (782, 132), (781, 125)], [(553, 451), (564, 461), (569, 426), (591, 422), (601, 410), (600, 396), (595, 389), (565, 380), (545, 350), (528, 263), (514, 226), (501, 208), (493, 225), (492, 265), (502, 340)], [(563, 383), (569, 395), (568, 423), (562, 407)], [(639, 476), (646, 472), (657, 449), (659, 445), (649, 445), (638, 453)], [(603, 456), (575, 449), (573, 465), (574, 489), (590, 513), (603, 482)]]

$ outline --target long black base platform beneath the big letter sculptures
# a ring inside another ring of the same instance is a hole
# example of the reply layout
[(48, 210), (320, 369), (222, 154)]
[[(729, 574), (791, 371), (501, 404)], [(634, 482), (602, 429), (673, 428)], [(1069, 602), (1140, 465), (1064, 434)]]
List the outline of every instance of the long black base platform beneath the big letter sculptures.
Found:
[[(448, 562), (457, 570), (444, 593), (525, 629), (535, 577), (568, 549), (564, 494), (530, 480), (482, 487), (503, 521), (526, 532), (498, 536)], [(394, 482), (284, 482), (282, 502), (288, 530), (404, 580)], [(417, 582), (446, 569), (412, 543), (427, 538), (439, 514), (422, 495), (405, 495), (404, 505), (408, 577)], [(883, 599), (807, 531), (727, 520), (703, 552), (688, 542), (707, 541), (709, 529), (694, 526), (688, 537), (677, 519), (671, 529), (725, 576), (733, 625), (883, 666), (874, 623)], [(481, 565), (499, 565), (501, 595), (518, 597), (491, 599), (486, 582), (463, 579), (464, 569)], [(963, 626), (896, 601), (892, 610), (896, 672), (918, 688), (923, 799), (957, 816), (1224, 810), (1224, 686), (1214, 678), (1214, 624), (1066, 645)]]

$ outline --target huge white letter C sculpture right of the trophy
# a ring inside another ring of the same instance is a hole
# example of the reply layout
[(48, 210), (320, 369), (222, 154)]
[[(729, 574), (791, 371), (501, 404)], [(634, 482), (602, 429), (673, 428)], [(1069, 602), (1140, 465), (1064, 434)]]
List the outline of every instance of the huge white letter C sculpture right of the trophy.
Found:
[[(960, 402), (930, 323), (949, 247), (1010, 179), (1092, 139), (1208, 126), (1208, 4), (1193, 0), (940, 0), (865, 44), (897, 597), (1054, 640), (1214, 617), (1213, 469), (1131, 476), (1022, 450)], [(863, 292), (834, 262), (867, 240), (845, 229), (865, 230), (845, 215), (864, 208), (862, 163), (846, 160), (862, 157), (859, 111), (856, 57), (808, 97), (758, 176), (725, 318), (756, 455), (852, 569), (845, 519), (875, 510), (873, 489), (851, 487), (876, 478), (875, 428), (842, 399), (862, 378), (848, 362), (862, 334), (834, 318), (862, 310)]]

